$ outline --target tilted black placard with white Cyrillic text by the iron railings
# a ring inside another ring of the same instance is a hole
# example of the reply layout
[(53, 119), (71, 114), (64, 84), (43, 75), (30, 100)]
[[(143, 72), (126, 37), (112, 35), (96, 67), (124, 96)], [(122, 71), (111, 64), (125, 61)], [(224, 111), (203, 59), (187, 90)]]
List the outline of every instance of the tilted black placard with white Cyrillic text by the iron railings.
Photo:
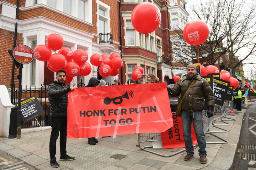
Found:
[[(18, 104), (16, 104), (18, 106)], [(36, 96), (28, 97), (21, 101), (21, 118), (24, 123), (44, 113), (44, 109)]]

